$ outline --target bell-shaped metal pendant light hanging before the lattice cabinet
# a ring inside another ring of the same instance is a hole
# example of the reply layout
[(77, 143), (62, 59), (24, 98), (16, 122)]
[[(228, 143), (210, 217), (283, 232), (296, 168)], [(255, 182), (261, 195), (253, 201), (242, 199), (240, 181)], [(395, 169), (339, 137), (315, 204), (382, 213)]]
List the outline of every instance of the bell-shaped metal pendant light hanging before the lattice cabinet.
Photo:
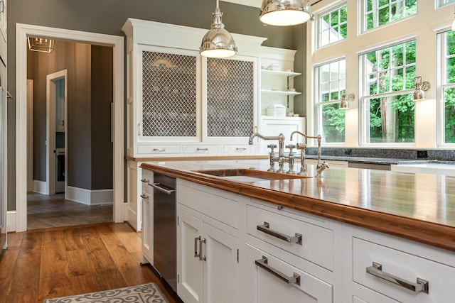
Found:
[(218, 6), (216, 0), (216, 9), (213, 12), (213, 23), (210, 30), (204, 35), (202, 44), (199, 48), (200, 55), (205, 57), (231, 57), (237, 53), (234, 39), (228, 31), (225, 30), (225, 25), (221, 21), (223, 13)]

